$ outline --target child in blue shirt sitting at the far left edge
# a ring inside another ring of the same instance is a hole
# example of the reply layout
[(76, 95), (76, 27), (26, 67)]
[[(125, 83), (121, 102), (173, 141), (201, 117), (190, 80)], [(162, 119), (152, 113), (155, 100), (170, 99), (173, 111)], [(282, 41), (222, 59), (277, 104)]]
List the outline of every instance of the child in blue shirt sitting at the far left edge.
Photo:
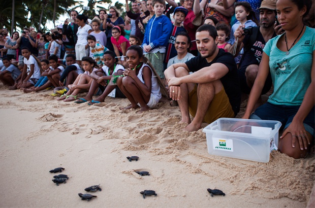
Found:
[(0, 81), (4, 85), (13, 86), (14, 81), (21, 75), (21, 71), (16, 65), (12, 64), (10, 58), (5, 57), (2, 62), (5, 67), (0, 72)]

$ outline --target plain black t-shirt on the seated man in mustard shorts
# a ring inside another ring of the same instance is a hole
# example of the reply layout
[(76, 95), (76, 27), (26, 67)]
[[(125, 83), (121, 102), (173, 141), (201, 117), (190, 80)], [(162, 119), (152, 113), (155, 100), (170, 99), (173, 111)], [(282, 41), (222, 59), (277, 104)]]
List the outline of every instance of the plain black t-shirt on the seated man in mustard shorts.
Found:
[(229, 72), (223, 76), (220, 81), (224, 86), (236, 116), (241, 105), (241, 89), (236, 63), (232, 54), (225, 52), (223, 49), (219, 49), (217, 56), (210, 63), (200, 55), (185, 62), (191, 72), (197, 72), (201, 70), (201, 68), (210, 66), (212, 63), (223, 63), (229, 69)]

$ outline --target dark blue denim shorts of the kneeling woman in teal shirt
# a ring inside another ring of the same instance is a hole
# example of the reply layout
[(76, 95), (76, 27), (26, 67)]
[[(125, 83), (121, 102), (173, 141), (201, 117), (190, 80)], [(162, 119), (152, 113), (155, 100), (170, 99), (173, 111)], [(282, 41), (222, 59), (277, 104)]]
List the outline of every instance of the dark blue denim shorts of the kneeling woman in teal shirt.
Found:
[[(273, 105), (266, 102), (264, 105), (257, 108), (249, 118), (280, 121), (282, 126), (285, 126), (283, 129), (286, 129), (292, 123), (293, 117), (296, 115), (299, 108), (300, 106)], [(305, 130), (312, 136), (314, 136), (314, 113), (313, 107), (303, 121)]]

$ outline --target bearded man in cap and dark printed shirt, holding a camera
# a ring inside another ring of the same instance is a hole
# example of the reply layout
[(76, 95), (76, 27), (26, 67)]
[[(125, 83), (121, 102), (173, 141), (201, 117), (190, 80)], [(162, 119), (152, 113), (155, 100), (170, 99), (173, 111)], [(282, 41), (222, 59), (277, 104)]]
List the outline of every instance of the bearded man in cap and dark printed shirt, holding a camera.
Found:
[[(240, 25), (234, 32), (235, 42), (230, 48), (229, 52), (233, 54), (235, 44), (237, 44), (236, 54), (244, 48), (244, 54), (238, 66), (238, 73), (241, 82), (242, 93), (249, 94), (257, 77), (259, 63), (262, 59), (263, 49), (265, 44), (276, 36), (274, 31), (274, 22), (276, 20), (276, 0), (264, 0), (259, 8), (260, 26), (252, 27), (252, 33), (244, 35), (246, 28)], [(248, 31), (248, 30), (247, 30)], [(234, 55), (234, 54), (233, 54)], [(267, 93), (272, 85), (270, 74), (265, 82), (262, 94)], [(258, 100), (257, 107), (262, 104), (261, 98)]]

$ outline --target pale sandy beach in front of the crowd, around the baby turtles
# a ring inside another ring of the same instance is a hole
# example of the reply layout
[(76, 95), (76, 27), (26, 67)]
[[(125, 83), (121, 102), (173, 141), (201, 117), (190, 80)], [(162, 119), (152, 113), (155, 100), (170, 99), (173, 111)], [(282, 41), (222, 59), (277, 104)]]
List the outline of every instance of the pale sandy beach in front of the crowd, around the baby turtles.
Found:
[[(0, 85), (1, 207), (306, 207), (310, 198), (314, 156), (273, 151), (268, 163), (212, 156), (202, 129), (183, 131), (169, 103), (138, 113), (120, 110), (128, 99), (88, 106), (50, 93)], [(140, 159), (129, 162), (133, 155)], [(56, 167), (65, 168), (66, 184), (52, 182)], [(99, 184), (91, 201), (78, 196)], [(211, 197), (207, 188), (226, 195)], [(143, 190), (157, 196), (144, 199)]]

